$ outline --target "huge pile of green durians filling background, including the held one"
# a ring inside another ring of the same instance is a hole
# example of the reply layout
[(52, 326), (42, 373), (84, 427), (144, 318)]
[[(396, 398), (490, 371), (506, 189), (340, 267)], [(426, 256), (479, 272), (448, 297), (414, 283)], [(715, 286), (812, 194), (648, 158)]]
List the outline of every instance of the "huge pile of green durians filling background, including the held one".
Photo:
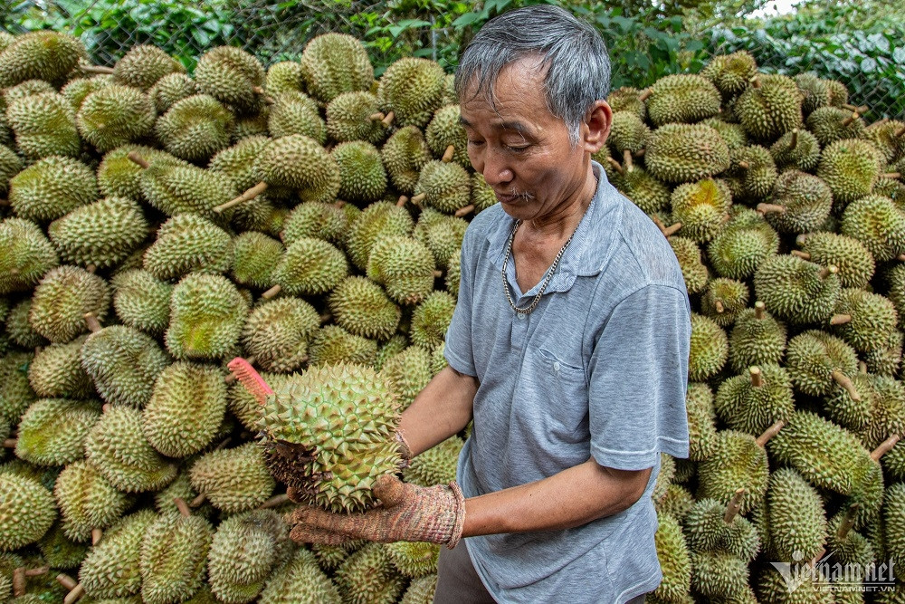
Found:
[[(0, 88), (0, 599), (430, 602), (438, 546), (300, 546), (282, 514), (286, 484), (373, 504), (445, 366), (462, 236), (496, 201), (452, 76), (406, 58), (376, 80), (341, 34), (266, 70), (214, 48), (190, 76), (35, 32), (0, 34)], [(609, 98), (596, 159), (694, 310), (653, 602), (864, 601), (769, 563), (828, 554), (894, 561), (900, 589), (867, 599), (905, 602), (905, 123), (847, 96), (736, 53)], [(293, 404), (259, 405), (234, 357)], [(452, 480), (463, 437), (405, 480)]]

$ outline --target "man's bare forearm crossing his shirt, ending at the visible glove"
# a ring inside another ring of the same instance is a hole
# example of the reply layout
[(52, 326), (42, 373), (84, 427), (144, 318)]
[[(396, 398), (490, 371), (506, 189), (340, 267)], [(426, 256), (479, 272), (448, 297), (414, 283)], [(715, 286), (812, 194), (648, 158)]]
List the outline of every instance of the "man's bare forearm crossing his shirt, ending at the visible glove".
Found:
[(652, 469), (615, 470), (592, 457), (543, 480), (466, 499), (462, 536), (562, 530), (622, 512), (642, 496)]

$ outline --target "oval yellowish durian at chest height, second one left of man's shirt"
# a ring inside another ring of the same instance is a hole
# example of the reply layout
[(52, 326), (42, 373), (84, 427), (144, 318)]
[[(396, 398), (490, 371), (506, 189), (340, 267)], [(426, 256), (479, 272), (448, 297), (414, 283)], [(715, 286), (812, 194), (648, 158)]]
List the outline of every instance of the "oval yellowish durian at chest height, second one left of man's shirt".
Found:
[(402, 318), (383, 288), (367, 277), (346, 277), (330, 293), (328, 305), (340, 327), (374, 340), (389, 339)]

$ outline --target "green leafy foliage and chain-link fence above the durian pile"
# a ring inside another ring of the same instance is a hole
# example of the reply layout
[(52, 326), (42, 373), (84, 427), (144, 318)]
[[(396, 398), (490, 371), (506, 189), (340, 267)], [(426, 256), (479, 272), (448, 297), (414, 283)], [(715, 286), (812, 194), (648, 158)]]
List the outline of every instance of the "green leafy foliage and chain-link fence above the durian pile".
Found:
[[(459, 50), (482, 23), (480, 18), (464, 26), (462, 19), (454, 22), (457, 14), (445, 10), (453, 4), (443, 0), (10, 1), (0, 0), (0, 22), (9, 32), (48, 28), (75, 34), (101, 65), (116, 62), (135, 44), (153, 43), (190, 70), (198, 56), (220, 44), (241, 46), (268, 65), (298, 59), (318, 34), (344, 32), (366, 44), (378, 75), (406, 54), (433, 58), (452, 72)], [(503, 6), (509, 0), (484, 0), (478, 6), (486, 15), (494, 2)], [(592, 19), (608, 10), (605, 1), (589, 5), (572, 8)], [(845, 29), (842, 18), (827, 18), (825, 24), (835, 30), (793, 21), (769, 30), (716, 27), (694, 34), (638, 18), (598, 18), (596, 23), (614, 55), (616, 85), (643, 87), (665, 73), (700, 68), (713, 54), (745, 49), (767, 72), (814, 71), (843, 81), (853, 102), (870, 107), (870, 120), (905, 116), (905, 48), (900, 46), (905, 25), (901, 31), (868, 34)], [(663, 40), (664, 35), (669, 37)], [(625, 61), (633, 55), (636, 60)], [(660, 63), (659, 71), (643, 64), (651, 62)]]

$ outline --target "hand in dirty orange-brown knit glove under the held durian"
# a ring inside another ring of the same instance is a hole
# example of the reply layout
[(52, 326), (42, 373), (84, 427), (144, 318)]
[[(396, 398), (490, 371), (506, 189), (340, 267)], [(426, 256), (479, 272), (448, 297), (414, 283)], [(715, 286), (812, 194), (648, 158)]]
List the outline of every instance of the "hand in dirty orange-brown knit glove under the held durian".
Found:
[(380, 504), (364, 513), (330, 513), (303, 505), (291, 514), (296, 542), (338, 545), (356, 539), (372, 542), (432, 542), (452, 550), (462, 538), (465, 498), (455, 481), (424, 487), (394, 475), (377, 478)]

